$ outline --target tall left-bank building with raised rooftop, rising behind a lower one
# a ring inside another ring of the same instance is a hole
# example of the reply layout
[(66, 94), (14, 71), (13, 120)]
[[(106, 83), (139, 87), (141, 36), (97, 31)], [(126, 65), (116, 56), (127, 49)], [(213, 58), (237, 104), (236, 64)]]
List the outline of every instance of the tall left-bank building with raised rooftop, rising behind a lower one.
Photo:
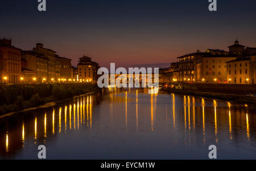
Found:
[[(47, 57), (47, 81), (50, 82), (51, 80), (56, 80), (55, 77), (55, 55), (56, 52), (52, 51), (51, 49), (44, 48), (42, 43), (37, 43), (36, 48), (33, 48), (35, 53), (43, 54)], [(59, 72), (59, 70), (57, 70)], [(57, 74), (58, 76), (58, 74)]]

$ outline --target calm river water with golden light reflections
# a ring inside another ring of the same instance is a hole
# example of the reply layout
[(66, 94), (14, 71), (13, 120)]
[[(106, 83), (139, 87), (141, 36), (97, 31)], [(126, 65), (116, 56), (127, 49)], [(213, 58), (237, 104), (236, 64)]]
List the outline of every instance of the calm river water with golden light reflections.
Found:
[(254, 107), (105, 89), (0, 118), (0, 159), (256, 159)]

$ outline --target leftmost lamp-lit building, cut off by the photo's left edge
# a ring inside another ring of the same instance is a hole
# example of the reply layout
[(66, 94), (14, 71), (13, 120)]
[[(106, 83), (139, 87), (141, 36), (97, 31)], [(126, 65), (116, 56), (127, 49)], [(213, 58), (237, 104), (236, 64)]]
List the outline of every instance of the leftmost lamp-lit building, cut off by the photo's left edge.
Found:
[(1, 84), (18, 84), (20, 82), (21, 51), (11, 45), (11, 39), (0, 38)]

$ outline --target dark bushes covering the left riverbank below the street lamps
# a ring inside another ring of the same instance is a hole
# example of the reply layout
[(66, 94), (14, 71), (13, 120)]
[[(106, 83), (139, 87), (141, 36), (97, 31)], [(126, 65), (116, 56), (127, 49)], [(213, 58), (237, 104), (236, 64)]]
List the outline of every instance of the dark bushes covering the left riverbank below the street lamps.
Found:
[(0, 85), (0, 114), (71, 98), (97, 89), (97, 85), (89, 83)]

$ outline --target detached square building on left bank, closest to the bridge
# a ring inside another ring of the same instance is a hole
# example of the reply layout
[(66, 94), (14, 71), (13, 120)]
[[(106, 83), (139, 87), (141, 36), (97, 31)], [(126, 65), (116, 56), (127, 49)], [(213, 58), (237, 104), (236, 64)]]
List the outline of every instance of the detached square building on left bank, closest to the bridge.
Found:
[(79, 64), (77, 65), (79, 80), (86, 82), (97, 82), (97, 71), (99, 68), (100, 66), (97, 64), (97, 62), (92, 61), (90, 57), (81, 57), (79, 59)]

